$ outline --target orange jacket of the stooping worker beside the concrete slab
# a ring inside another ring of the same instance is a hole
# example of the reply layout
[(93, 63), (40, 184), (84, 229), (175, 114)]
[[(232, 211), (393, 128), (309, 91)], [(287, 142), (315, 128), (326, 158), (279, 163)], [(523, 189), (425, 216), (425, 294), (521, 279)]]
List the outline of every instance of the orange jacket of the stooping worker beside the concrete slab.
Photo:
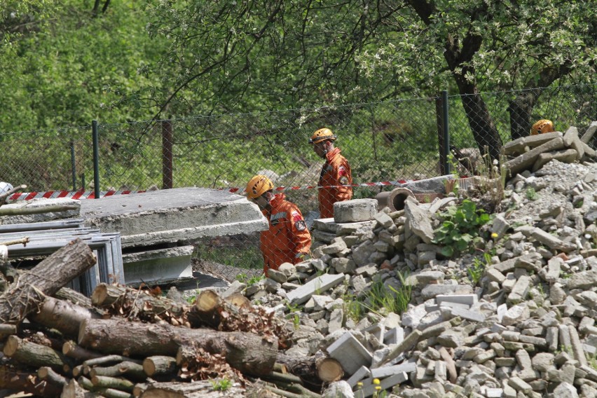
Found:
[(270, 224), (259, 238), (266, 276), (268, 269), (277, 270), (282, 263), (300, 263), (299, 256), (308, 254), (311, 248), (311, 234), (301, 210), (284, 198), (284, 193), (277, 193), (270, 200), (270, 211), (262, 211)]

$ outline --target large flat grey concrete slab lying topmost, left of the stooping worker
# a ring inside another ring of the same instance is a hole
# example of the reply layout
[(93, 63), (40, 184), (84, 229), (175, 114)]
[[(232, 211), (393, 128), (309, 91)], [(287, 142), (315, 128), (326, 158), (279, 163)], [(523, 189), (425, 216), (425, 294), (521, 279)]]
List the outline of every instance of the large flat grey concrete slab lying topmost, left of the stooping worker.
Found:
[(120, 232), (123, 248), (263, 231), (268, 221), (242, 195), (174, 188), (81, 201), (80, 217), (102, 232)]

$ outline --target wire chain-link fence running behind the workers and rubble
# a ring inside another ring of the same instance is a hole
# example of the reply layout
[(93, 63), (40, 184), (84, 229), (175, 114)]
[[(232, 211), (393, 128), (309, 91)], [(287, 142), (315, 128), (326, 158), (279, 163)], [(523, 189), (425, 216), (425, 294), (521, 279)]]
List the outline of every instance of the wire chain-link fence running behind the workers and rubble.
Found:
[[(317, 183), (324, 160), (308, 139), (319, 128), (330, 128), (338, 137), (334, 144), (352, 168), (352, 198), (373, 198), (396, 181), (447, 174), (448, 142), (456, 151), (483, 150), (483, 145), (499, 151), (505, 142), (528, 135), (540, 118), (554, 121), (556, 130), (575, 125), (582, 132), (597, 120), (596, 88), (438, 95), (0, 133), (0, 180), (27, 184), (31, 191), (92, 190), (99, 181), (97, 191), (200, 186), (241, 193), (251, 177), (266, 174), (310, 219), (319, 210)], [(254, 237), (216, 241), (259, 253)], [(204, 254), (213, 253), (213, 240), (205, 245)], [(247, 258), (254, 257), (259, 255)], [(238, 255), (230, 258), (230, 265), (241, 261)], [(262, 266), (250, 262), (253, 268)]]

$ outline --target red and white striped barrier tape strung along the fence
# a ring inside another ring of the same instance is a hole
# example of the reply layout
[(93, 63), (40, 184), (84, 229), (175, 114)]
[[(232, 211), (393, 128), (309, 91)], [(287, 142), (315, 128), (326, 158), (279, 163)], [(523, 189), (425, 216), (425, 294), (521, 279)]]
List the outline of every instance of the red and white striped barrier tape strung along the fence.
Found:
[[(389, 186), (397, 185), (402, 186), (406, 183), (406, 180), (399, 181), (379, 181), (379, 182), (364, 182), (362, 184), (350, 184), (350, 186)], [(338, 185), (348, 186), (348, 185)], [(316, 185), (303, 185), (303, 186), (278, 186), (274, 188), (274, 191), (298, 191), (301, 189), (315, 189), (315, 188), (331, 188), (332, 186), (316, 186)], [(245, 188), (219, 188), (219, 191), (229, 191), (231, 193), (237, 193), (245, 191)], [(146, 191), (102, 191), (99, 193), (99, 198), (107, 198), (108, 196), (114, 195), (128, 195), (130, 193), (143, 193)], [(32, 199), (52, 199), (52, 198), (69, 198), (69, 199), (95, 199), (94, 191), (46, 191), (46, 192), (17, 192), (8, 197), (8, 200), (32, 200)]]

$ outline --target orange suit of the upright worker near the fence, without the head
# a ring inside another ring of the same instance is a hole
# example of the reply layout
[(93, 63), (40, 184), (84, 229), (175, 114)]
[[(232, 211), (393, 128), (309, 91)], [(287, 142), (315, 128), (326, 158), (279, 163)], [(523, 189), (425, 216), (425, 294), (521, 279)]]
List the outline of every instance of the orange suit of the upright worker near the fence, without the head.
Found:
[(352, 184), (352, 172), (348, 160), (340, 154), (339, 148), (325, 155), (326, 161), (322, 167), (319, 188), (320, 217), (327, 219), (334, 217), (334, 203), (350, 200), (352, 186), (338, 186)]

